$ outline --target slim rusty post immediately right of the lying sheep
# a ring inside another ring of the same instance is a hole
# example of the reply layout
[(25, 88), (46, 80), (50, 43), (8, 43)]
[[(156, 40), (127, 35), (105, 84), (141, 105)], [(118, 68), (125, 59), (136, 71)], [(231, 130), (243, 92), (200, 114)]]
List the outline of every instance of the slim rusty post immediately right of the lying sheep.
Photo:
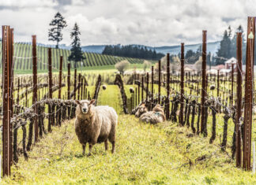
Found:
[(167, 54), (167, 98), (165, 100), (166, 120), (170, 117), (170, 54)]

